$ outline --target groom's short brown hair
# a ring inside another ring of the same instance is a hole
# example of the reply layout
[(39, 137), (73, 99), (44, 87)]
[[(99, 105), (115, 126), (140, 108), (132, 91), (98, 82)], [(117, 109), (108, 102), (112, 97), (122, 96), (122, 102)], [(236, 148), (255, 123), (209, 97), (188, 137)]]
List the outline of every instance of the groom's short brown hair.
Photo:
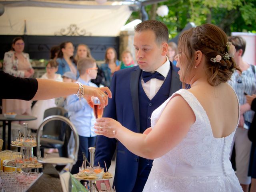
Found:
[(156, 20), (147, 20), (139, 23), (134, 27), (135, 32), (142, 32), (146, 30), (152, 30), (156, 35), (156, 42), (161, 44), (162, 42), (168, 42), (169, 33), (167, 26)]

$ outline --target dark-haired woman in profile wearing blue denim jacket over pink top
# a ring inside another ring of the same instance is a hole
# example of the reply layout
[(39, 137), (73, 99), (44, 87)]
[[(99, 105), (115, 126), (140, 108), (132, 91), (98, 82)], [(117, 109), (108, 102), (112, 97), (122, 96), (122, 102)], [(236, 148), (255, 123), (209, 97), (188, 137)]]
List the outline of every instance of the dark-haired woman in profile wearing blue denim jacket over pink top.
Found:
[(76, 64), (74, 62), (74, 46), (72, 42), (63, 42), (60, 44), (60, 52), (58, 53), (57, 62), (59, 64), (58, 71), (56, 73), (63, 75), (65, 72), (71, 71), (79, 76)]

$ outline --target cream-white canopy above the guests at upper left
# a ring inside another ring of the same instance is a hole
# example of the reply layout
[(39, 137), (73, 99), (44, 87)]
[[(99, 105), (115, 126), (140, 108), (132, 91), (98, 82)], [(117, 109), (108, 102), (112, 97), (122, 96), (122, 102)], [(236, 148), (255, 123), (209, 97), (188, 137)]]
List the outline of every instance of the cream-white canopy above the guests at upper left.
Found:
[[(0, 35), (60, 35), (67, 34), (70, 25), (79, 35), (119, 36), (120, 29), (132, 11), (129, 4), (95, 1), (1, 1), (4, 14), (0, 16)], [(26, 30), (25, 30), (26, 20)], [(68, 34), (70, 35), (70, 34)]]

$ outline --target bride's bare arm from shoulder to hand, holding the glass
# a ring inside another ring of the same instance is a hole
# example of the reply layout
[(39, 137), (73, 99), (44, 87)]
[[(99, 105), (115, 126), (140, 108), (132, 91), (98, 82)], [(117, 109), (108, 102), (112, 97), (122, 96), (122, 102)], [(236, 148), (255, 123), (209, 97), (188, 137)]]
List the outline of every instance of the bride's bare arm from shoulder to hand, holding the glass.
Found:
[(167, 104), (157, 124), (148, 134), (132, 132), (111, 118), (97, 119), (95, 128), (98, 134), (116, 137), (132, 153), (155, 159), (178, 145), (195, 120), (194, 112), (188, 103), (177, 95)]

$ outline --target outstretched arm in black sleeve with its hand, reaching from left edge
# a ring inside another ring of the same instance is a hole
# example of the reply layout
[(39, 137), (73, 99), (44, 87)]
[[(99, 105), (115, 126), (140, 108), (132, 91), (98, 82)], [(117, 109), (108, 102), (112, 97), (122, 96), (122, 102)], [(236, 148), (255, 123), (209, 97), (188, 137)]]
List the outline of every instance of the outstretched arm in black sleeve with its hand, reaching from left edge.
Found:
[[(77, 83), (58, 82), (48, 79), (20, 78), (0, 71), (0, 99), (46, 100), (68, 96), (78, 92)], [(111, 92), (107, 87), (84, 87), (84, 98), (92, 106), (92, 96), (100, 99), (101, 107), (108, 104)]]

